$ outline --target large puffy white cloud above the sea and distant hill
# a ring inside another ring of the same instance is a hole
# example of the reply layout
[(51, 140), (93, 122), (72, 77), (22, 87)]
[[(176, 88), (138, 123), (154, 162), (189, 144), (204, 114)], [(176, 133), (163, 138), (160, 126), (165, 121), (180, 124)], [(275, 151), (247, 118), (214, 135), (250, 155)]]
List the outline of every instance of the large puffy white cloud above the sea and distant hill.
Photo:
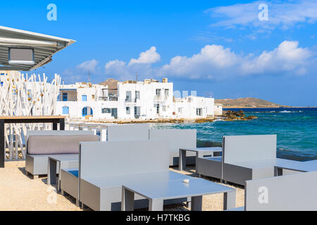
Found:
[(260, 56), (236, 54), (223, 46), (207, 45), (187, 58), (176, 56), (161, 68), (162, 73), (178, 77), (223, 79), (232, 76), (289, 73), (304, 75), (311, 51), (298, 47), (297, 41), (283, 41), (273, 51)]

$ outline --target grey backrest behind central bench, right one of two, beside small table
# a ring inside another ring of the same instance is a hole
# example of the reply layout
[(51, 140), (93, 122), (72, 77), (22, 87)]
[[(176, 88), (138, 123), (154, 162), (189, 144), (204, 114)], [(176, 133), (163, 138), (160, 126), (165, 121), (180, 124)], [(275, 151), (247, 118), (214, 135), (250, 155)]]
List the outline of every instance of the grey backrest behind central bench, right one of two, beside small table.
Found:
[(196, 148), (197, 130), (195, 129), (150, 129), (150, 140), (166, 140), (169, 151), (178, 153), (180, 148)]

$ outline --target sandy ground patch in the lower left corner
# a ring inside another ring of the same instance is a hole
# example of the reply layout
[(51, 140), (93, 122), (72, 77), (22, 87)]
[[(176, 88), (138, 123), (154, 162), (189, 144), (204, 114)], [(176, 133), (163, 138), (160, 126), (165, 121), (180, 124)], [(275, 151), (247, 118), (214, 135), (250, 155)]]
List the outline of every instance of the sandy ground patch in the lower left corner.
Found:
[(6, 162), (0, 169), (1, 211), (78, 211), (70, 197), (54, 195), (46, 177), (37, 180), (25, 176), (25, 162)]

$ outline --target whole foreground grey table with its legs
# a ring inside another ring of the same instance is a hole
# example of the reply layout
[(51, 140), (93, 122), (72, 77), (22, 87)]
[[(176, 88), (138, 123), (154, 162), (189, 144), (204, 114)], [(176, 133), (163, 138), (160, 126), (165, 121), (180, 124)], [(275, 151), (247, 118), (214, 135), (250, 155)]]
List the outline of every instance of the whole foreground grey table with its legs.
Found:
[(235, 208), (235, 189), (204, 179), (166, 180), (124, 184), (122, 191), (122, 211), (134, 210), (135, 193), (149, 199), (149, 211), (163, 211), (163, 200), (192, 197), (192, 211), (201, 211), (202, 196), (224, 193), (223, 209)]

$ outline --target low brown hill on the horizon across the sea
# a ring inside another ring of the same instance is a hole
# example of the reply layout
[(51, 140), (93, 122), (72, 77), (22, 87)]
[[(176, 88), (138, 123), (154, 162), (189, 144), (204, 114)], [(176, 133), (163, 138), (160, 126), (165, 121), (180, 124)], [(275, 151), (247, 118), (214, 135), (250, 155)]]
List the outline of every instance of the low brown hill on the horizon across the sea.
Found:
[(278, 105), (270, 101), (265, 101), (260, 98), (225, 98), (215, 99), (215, 103), (223, 104), (223, 108), (280, 108), (290, 107), (287, 105)]

